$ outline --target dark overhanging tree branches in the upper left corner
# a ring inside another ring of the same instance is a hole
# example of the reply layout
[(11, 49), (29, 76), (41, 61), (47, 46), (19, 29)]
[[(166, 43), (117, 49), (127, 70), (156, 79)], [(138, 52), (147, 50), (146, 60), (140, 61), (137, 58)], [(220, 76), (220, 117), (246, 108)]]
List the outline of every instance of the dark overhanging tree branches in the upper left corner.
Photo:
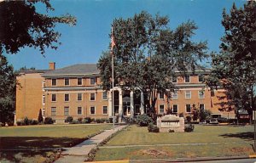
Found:
[[(46, 14), (36, 10), (36, 3), (44, 3)], [(0, 2), (0, 54), (17, 53), (20, 48), (56, 49), (61, 33), (55, 31), (57, 23), (75, 25), (76, 19), (70, 14), (49, 16), (54, 8), (49, 0), (23, 0)]]

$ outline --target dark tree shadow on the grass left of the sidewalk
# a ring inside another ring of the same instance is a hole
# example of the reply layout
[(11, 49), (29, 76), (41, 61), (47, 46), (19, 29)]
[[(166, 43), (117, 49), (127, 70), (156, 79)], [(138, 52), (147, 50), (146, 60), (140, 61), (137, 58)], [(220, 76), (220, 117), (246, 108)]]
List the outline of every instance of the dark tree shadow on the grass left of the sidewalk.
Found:
[(0, 162), (53, 162), (60, 153), (60, 149), (56, 148), (73, 147), (84, 140), (67, 137), (0, 137)]

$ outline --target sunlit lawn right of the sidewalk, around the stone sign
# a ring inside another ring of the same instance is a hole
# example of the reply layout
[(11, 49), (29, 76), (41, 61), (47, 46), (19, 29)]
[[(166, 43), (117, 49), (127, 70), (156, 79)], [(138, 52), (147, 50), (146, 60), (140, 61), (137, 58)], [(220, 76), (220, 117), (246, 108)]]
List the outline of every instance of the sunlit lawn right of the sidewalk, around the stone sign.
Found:
[(251, 144), (253, 126), (196, 125), (194, 132), (173, 133), (149, 133), (147, 127), (129, 126), (98, 150), (96, 160), (249, 155), (253, 153)]

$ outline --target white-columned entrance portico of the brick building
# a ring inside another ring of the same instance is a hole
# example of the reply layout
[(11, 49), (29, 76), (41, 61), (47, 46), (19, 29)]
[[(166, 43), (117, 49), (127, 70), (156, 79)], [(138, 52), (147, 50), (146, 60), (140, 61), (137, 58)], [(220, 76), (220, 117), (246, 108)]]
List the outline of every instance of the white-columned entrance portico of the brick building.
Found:
[[(112, 98), (113, 92), (113, 98)], [(113, 107), (112, 107), (113, 100)], [(120, 87), (113, 87), (108, 92), (108, 116), (119, 115), (119, 122), (122, 117), (131, 117), (144, 114), (143, 92), (122, 90)]]

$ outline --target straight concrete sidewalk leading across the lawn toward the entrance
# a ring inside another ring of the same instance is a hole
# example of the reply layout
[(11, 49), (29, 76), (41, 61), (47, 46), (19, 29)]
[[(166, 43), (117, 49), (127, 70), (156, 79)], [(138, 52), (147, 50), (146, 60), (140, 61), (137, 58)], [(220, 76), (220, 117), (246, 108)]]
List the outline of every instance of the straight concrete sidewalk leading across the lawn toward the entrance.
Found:
[(118, 132), (123, 129), (124, 126), (116, 126), (114, 129), (106, 130), (95, 137), (85, 140), (82, 143), (73, 146), (72, 148), (67, 148), (61, 153), (61, 157), (55, 161), (55, 163), (66, 163), (66, 162), (84, 162), (88, 157), (91, 149), (96, 148), (98, 143), (102, 143), (103, 140), (111, 136), (113, 133)]

